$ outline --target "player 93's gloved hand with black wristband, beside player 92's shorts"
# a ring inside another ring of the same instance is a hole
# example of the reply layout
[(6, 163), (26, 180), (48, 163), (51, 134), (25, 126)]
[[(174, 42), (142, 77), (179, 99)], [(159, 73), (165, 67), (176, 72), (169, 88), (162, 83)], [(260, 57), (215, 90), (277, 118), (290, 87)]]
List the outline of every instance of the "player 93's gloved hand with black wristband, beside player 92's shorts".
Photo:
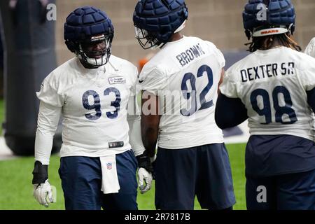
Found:
[(138, 180), (139, 180), (139, 189), (141, 194), (146, 193), (151, 189), (152, 184), (152, 173), (153, 173), (153, 165), (151, 163), (151, 159), (147, 155), (138, 155)]

